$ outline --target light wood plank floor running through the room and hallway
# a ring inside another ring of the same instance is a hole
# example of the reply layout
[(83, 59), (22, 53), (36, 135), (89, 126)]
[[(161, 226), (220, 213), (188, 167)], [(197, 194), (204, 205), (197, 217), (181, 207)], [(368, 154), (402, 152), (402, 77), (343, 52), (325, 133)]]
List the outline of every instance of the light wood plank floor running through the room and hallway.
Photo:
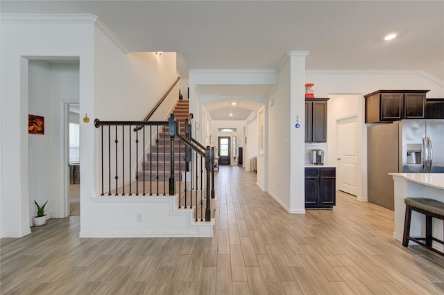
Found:
[(443, 294), (444, 260), (393, 240), (393, 211), (337, 194), (289, 214), (221, 166), (214, 238), (78, 238), (79, 217), (1, 239), (1, 294)]

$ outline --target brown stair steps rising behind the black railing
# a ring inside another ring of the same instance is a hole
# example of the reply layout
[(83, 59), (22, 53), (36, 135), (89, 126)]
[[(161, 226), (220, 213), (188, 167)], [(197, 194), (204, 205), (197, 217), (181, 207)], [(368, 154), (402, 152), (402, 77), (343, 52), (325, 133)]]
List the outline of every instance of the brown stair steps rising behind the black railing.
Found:
[[(179, 133), (185, 136), (185, 120), (189, 116), (189, 100), (178, 100), (173, 109), (176, 121), (180, 122)], [(146, 160), (142, 163), (142, 169), (137, 172), (139, 181), (168, 181), (171, 175), (171, 146), (169, 128), (160, 130), (158, 137), (152, 143), (152, 152), (146, 154)], [(160, 153), (157, 153), (160, 152)], [(182, 180), (182, 172), (185, 171), (183, 160), (185, 159), (185, 145), (179, 139), (174, 140), (174, 171), (176, 181)]]

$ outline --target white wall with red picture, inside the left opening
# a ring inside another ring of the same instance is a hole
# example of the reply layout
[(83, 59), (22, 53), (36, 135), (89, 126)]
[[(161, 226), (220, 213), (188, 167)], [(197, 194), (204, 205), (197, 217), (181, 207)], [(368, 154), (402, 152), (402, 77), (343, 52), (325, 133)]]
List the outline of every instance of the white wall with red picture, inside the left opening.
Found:
[(49, 217), (65, 217), (60, 211), (64, 200), (65, 183), (60, 173), (61, 129), (60, 116), (65, 100), (78, 101), (78, 62), (49, 63), (29, 61), (29, 114), (44, 116), (44, 134), (28, 134), (29, 206), (30, 217), (35, 216), (35, 204), (48, 204)]

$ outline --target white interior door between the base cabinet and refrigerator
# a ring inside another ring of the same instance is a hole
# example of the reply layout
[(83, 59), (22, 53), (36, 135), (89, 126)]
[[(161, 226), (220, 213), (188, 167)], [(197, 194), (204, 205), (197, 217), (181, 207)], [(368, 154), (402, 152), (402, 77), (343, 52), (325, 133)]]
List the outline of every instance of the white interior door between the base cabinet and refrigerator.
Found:
[(336, 185), (339, 190), (357, 195), (358, 148), (357, 116), (336, 121)]

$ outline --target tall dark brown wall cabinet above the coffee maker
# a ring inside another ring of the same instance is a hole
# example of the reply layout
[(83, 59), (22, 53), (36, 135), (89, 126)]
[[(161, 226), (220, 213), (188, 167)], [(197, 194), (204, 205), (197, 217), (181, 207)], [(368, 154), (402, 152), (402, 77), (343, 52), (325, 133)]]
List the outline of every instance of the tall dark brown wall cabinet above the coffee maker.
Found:
[(327, 141), (327, 100), (328, 98), (307, 98), (305, 100), (306, 143), (325, 143)]

